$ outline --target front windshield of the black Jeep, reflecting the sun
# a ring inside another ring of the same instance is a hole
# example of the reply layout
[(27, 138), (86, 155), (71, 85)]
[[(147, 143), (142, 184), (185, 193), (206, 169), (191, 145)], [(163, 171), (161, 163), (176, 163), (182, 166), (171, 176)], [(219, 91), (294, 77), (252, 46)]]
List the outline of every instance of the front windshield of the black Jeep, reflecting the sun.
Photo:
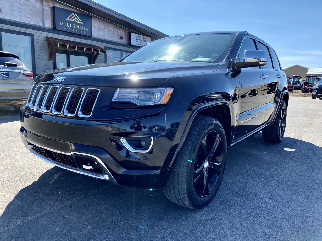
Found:
[(230, 49), (234, 34), (196, 34), (164, 38), (146, 44), (122, 61), (184, 60), (222, 62)]

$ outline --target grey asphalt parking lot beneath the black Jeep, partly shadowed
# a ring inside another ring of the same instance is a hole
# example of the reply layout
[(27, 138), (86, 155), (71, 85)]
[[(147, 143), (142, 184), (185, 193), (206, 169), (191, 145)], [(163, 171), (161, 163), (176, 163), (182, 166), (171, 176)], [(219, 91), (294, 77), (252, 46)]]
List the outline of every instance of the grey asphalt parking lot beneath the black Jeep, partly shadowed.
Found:
[(231, 147), (202, 210), (45, 163), (19, 128), (0, 107), (0, 240), (322, 240), (322, 99), (290, 97), (280, 144)]

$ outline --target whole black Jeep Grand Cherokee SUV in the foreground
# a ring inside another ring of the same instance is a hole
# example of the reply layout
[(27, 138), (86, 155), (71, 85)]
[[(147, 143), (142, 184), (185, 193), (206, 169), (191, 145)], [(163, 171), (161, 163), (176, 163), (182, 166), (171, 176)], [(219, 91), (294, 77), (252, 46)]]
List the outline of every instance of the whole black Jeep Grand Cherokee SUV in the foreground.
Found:
[(248, 32), (167, 37), (34, 82), (20, 129), (34, 155), (191, 209), (218, 191), (227, 147), (260, 131), (279, 143), (285, 131), (286, 76)]

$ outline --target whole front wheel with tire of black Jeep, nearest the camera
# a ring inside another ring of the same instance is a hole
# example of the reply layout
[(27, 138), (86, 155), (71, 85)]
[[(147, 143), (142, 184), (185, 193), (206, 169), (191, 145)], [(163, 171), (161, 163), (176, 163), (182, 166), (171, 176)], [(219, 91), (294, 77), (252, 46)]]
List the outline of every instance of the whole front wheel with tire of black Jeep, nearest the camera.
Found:
[(166, 197), (190, 209), (206, 206), (223, 180), (226, 155), (222, 124), (211, 117), (197, 116), (166, 182), (163, 190)]

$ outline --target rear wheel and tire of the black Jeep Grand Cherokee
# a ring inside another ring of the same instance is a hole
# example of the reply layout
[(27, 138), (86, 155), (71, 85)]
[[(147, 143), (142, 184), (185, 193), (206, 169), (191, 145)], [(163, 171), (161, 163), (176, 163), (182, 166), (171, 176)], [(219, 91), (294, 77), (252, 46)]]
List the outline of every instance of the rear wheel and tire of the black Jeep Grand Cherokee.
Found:
[(275, 121), (270, 127), (262, 131), (263, 139), (268, 143), (279, 143), (284, 137), (287, 118), (287, 106), (285, 101), (281, 101), (278, 113), (278, 116), (276, 116)]

